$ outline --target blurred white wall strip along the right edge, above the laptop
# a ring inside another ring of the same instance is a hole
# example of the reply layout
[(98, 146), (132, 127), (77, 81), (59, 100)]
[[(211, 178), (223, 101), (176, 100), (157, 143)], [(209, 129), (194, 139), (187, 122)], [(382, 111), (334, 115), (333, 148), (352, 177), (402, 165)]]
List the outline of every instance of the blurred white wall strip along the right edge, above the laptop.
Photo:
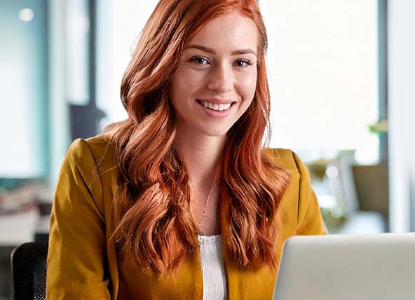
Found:
[(415, 1), (388, 1), (390, 231), (393, 232), (410, 231), (411, 223), (415, 224), (415, 215), (411, 216), (411, 189), (415, 189), (414, 15)]

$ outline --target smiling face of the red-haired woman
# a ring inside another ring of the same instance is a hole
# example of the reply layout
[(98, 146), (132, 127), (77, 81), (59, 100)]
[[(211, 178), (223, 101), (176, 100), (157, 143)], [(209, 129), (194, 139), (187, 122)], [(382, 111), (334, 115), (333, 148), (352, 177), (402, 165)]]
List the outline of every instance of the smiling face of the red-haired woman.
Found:
[(222, 136), (257, 86), (257, 27), (238, 13), (208, 22), (186, 45), (170, 84), (177, 129)]

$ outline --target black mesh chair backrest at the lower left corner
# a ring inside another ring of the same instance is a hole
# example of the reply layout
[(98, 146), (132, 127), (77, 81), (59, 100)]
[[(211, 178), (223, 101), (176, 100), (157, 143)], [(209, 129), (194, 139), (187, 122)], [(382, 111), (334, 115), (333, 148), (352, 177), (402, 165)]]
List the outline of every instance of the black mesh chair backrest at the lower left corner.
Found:
[(11, 253), (14, 300), (46, 300), (48, 242), (24, 243)]

